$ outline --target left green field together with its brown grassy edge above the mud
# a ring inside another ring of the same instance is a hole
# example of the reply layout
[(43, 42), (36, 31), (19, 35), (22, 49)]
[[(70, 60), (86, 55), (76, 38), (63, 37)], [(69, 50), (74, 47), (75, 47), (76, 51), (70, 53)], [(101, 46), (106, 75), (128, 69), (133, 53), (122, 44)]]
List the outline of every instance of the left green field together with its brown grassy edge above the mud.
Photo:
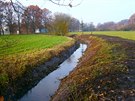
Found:
[(0, 92), (24, 72), (60, 54), (74, 43), (73, 39), (62, 36), (0, 36)]

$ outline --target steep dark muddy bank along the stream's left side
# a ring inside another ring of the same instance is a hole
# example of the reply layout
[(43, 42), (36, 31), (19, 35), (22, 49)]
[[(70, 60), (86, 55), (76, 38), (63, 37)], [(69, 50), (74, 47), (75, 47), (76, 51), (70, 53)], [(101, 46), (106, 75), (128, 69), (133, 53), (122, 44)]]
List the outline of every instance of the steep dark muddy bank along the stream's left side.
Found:
[(18, 77), (15, 81), (10, 81), (10, 85), (4, 93), (5, 101), (8, 101), (9, 99), (11, 99), (11, 101), (16, 101), (18, 98), (23, 96), (43, 77), (57, 69), (57, 66), (67, 59), (78, 47), (79, 42), (75, 42), (72, 44), (72, 46), (63, 47), (62, 52), (58, 54), (55, 54), (52, 51), (51, 55), (53, 58), (37, 66), (36, 68), (28, 68), (27, 71), (22, 74), (22, 76)]

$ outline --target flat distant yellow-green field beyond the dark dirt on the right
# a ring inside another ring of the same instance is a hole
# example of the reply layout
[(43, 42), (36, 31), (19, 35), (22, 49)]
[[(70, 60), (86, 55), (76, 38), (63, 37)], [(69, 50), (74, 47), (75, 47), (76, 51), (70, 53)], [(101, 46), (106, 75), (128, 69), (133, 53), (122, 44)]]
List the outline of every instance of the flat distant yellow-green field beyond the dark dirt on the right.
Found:
[[(72, 32), (71, 34), (82, 34), (82, 32)], [(83, 32), (83, 34), (91, 34), (91, 32)], [(92, 34), (118, 36), (125, 39), (135, 40), (135, 31), (93, 31)]]

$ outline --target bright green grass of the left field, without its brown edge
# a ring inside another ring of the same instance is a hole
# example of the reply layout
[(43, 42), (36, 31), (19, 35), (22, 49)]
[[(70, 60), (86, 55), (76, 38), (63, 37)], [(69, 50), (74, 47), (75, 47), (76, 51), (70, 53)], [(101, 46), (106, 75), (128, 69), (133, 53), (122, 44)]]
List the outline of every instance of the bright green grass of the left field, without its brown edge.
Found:
[(0, 56), (52, 48), (67, 40), (67, 37), (49, 35), (0, 36)]

